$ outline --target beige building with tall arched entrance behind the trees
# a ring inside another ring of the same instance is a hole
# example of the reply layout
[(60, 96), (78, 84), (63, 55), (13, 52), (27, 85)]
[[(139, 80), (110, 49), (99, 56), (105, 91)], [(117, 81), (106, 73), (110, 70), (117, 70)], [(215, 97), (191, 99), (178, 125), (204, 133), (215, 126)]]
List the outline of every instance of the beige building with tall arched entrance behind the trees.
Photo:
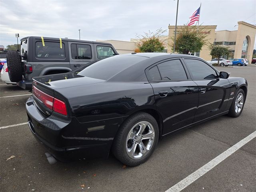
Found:
[[(181, 28), (182, 26), (177, 26), (177, 28)], [(208, 34), (207, 40), (208, 43), (211, 44), (219, 44), (228, 46), (231, 50), (231, 54), (228, 59), (232, 58), (247, 58), (248, 62), (252, 61), (252, 52), (254, 48), (255, 36), (256, 36), (256, 26), (239, 21), (238, 22), (238, 30), (235, 31), (216, 31), (216, 25), (209, 26), (199, 26), (200, 28), (204, 28), (205, 32)], [(175, 26), (168, 26), (168, 36), (163, 36), (162, 40), (164, 40), (165, 44), (165, 52), (171, 53), (172, 48), (172, 36), (174, 36)], [(108, 42), (111, 43), (114, 48), (118, 51), (119, 54), (132, 53), (136, 49), (136, 42), (138, 39), (131, 38), (130, 41), (119, 41), (119, 40), (97, 40), (100, 42)], [(211, 60), (212, 56), (210, 56), (210, 50), (208, 49), (208, 45), (204, 45), (202, 50), (199, 53), (190, 53), (192, 55), (199, 56), (204, 60)], [(227, 58), (227, 56), (222, 56), (223, 58)]]

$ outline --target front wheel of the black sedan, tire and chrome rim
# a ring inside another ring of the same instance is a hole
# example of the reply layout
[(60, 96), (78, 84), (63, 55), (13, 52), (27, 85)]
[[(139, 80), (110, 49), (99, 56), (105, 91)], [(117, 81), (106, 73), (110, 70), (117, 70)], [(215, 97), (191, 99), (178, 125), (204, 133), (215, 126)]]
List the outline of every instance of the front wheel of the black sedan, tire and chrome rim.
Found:
[(236, 92), (236, 96), (234, 96), (233, 102), (230, 106), (228, 115), (230, 117), (238, 117), (242, 113), (242, 110), (244, 108), (244, 101), (245, 101), (245, 94), (244, 90), (239, 89)]

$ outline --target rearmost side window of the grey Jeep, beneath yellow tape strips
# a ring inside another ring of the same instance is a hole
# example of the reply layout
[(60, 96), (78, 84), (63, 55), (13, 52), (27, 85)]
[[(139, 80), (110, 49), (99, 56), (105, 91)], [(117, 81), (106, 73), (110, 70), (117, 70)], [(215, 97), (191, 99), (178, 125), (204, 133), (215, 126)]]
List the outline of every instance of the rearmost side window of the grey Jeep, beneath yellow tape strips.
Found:
[(36, 58), (38, 59), (65, 59), (65, 46), (62, 43), (60, 48), (59, 42), (36, 42)]

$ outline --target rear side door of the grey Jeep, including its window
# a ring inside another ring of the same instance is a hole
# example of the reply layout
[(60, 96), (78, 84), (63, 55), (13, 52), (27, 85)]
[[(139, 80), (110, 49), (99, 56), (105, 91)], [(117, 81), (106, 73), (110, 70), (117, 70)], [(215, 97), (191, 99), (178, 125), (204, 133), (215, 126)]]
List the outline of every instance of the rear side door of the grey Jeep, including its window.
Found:
[(95, 60), (92, 43), (68, 42), (68, 46), (72, 70)]

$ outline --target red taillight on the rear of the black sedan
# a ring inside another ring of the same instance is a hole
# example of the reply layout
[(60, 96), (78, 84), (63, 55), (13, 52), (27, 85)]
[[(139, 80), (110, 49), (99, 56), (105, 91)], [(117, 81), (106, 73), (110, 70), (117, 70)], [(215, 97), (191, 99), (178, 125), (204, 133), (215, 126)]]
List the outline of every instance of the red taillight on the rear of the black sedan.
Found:
[(44, 105), (50, 110), (53, 110), (62, 115), (67, 115), (65, 102), (42, 92), (41, 90), (36, 88), (34, 85), (33, 85), (33, 94), (34, 96), (36, 96), (36, 98), (38, 98), (41, 102), (43, 102)]

